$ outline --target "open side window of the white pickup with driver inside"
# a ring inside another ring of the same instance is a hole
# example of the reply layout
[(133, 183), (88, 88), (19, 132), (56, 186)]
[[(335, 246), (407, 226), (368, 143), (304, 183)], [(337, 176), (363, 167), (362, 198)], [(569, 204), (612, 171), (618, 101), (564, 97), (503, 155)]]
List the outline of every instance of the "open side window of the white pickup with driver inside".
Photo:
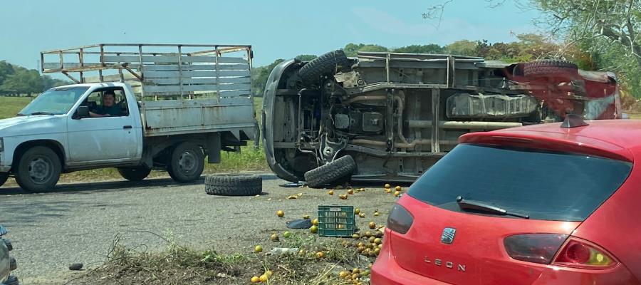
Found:
[(122, 88), (103, 88), (93, 91), (83, 105), (89, 107), (90, 117), (126, 117), (127, 98)]

